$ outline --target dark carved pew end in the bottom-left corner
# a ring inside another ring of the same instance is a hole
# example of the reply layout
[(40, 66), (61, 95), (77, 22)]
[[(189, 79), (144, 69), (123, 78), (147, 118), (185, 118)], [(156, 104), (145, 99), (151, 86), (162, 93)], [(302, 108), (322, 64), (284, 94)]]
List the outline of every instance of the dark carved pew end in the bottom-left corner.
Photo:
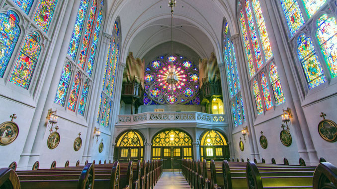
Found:
[(0, 189), (20, 189), (20, 181), (12, 168), (0, 169)]

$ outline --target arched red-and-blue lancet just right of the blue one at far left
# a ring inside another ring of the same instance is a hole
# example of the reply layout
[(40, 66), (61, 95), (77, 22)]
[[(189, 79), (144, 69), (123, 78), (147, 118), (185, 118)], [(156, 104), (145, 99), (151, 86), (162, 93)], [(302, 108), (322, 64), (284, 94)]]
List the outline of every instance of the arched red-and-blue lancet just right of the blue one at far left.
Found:
[(9, 81), (28, 89), (41, 51), (40, 36), (37, 32), (28, 34), (16, 59)]

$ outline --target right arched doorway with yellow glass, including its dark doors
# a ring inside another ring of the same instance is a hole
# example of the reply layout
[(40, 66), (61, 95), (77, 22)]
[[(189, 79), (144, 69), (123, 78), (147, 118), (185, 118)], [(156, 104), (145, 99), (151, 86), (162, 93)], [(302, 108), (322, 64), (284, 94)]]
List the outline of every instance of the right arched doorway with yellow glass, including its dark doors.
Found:
[(225, 135), (218, 130), (207, 130), (200, 139), (200, 159), (222, 161), (229, 159), (229, 147)]

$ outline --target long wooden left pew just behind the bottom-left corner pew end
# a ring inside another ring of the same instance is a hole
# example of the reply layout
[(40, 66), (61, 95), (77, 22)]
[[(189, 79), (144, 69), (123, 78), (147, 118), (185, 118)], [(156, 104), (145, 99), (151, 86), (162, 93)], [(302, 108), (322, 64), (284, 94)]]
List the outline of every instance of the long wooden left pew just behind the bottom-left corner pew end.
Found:
[[(54, 171), (54, 170), (53, 170)], [(23, 189), (87, 189), (94, 186), (94, 166), (87, 164), (81, 172), (64, 171), (57, 175), (49, 171), (49, 174), (18, 174), (20, 185)], [(25, 171), (19, 171), (17, 173)], [(45, 172), (44, 170), (41, 171)]]

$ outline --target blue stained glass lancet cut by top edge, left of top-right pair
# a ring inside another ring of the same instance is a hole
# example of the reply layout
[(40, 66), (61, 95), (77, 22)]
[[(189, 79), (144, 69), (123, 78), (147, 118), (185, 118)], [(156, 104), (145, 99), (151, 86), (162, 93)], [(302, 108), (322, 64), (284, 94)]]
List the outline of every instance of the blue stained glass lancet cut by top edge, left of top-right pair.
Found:
[(287, 25), (293, 36), (305, 23), (297, 0), (280, 0), (282, 9), (287, 20)]

